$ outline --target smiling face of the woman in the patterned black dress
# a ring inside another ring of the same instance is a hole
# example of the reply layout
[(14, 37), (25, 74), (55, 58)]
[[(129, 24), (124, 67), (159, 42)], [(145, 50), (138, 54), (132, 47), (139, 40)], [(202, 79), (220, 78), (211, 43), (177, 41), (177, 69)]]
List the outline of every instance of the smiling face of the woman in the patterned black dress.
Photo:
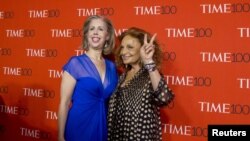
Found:
[(141, 43), (137, 38), (126, 35), (120, 45), (120, 57), (126, 65), (138, 65), (140, 60)]

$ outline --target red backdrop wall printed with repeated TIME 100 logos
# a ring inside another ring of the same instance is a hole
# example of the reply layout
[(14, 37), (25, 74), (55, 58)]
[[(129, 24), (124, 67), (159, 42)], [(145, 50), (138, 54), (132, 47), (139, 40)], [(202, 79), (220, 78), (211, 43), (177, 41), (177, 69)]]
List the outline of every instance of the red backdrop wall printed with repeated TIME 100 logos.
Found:
[(83, 53), (82, 24), (95, 14), (116, 36), (131, 26), (157, 33), (176, 95), (161, 111), (164, 141), (206, 141), (210, 124), (250, 123), (248, 0), (1, 0), (1, 141), (57, 140), (61, 68)]

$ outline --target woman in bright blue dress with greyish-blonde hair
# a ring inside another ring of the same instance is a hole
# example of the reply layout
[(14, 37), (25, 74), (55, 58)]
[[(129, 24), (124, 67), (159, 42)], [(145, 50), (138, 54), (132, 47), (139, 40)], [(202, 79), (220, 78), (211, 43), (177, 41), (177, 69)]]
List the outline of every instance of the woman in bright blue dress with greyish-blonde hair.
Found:
[(118, 74), (106, 58), (115, 45), (111, 21), (90, 16), (83, 26), (85, 54), (73, 56), (63, 67), (58, 111), (59, 141), (106, 141), (107, 104)]

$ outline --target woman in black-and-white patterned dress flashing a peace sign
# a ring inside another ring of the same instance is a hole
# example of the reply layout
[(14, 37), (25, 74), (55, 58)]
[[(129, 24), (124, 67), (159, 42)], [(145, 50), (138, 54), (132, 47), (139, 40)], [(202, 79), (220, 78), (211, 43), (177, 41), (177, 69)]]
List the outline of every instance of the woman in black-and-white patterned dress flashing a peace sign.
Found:
[(174, 95), (159, 72), (161, 51), (155, 38), (136, 27), (119, 37), (116, 62), (125, 71), (109, 101), (109, 141), (162, 140), (160, 107)]

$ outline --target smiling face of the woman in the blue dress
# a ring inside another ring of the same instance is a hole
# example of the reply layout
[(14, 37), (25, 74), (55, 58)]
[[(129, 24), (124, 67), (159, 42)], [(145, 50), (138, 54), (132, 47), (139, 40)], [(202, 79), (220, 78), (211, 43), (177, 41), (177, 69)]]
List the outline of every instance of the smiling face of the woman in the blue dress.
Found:
[(90, 48), (102, 49), (109, 39), (107, 26), (102, 19), (93, 19), (88, 28), (87, 39)]

